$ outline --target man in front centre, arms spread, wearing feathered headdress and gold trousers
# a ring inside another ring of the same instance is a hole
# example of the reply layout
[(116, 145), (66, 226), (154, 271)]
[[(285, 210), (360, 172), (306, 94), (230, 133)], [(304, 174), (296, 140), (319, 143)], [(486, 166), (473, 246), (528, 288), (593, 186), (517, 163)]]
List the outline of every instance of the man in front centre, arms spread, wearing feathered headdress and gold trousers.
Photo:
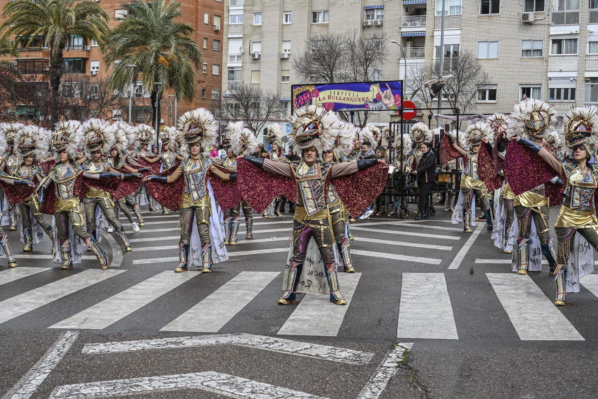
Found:
[[(277, 180), (269, 177), (267, 173), (260, 171), (260, 169), (283, 176), (284, 178), (280, 178), (280, 181), (283, 181), (283, 183), (279, 182), (279, 184), (285, 185), (286, 188), (293, 187), (293, 185), (295, 187), (297, 205), (295, 206), (292, 233), (292, 257), (287, 275), (288, 284), (286, 285), (285, 293), (279, 299), (278, 303), (289, 304), (297, 301), (297, 285), (301, 279), (303, 263), (306, 260), (310, 239), (313, 238), (319, 248), (319, 253), (324, 263), (324, 273), (329, 287), (329, 300), (332, 303), (344, 305), (347, 304), (347, 301), (344, 299), (343, 294), (341, 294), (338, 285), (337, 263), (335, 262), (332, 249), (334, 241), (331, 232), (331, 217), (328, 211), (328, 182), (331, 181), (332, 184), (335, 184), (335, 179), (340, 178), (340, 176), (352, 175), (359, 170), (376, 165), (376, 163), (384, 162), (378, 159), (367, 159), (332, 165), (331, 163), (319, 160), (318, 153), (331, 148), (334, 143), (334, 137), (338, 134), (337, 129), (335, 129), (335, 126), (337, 126), (337, 117), (332, 111), (326, 111), (324, 108), (315, 105), (303, 106), (295, 110), (289, 123), (292, 129), (288, 138), (295, 151), (303, 151), (301, 161), (287, 164), (269, 159), (245, 156), (245, 160), (259, 168), (246, 170), (255, 171), (263, 181), (259, 188), (254, 187), (249, 181), (254, 181), (256, 176), (245, 172), (246, 175), (242, 179), (246, 179), (247, 181), (240, 181), (239, 187), (242, 190), (243, 196), (248, 199), (250, 204), (252, 202), (258, 203), (260, 199), (263, 201), (264, 198), (271, 198), (272, 195), (276, 196), (284, 191), (284, 189), (281, 190), (280, 185), (270, 184), (270, 181), (274, 183)], [(239, 164), (237, 164), (237, 170), (239, 170)], [(374, 172), (376, 170), (372, 173)], [(386, 182), (386, 168), (382, 171), (378, 169), (378, 172), (383, 173), (384, 182)], [(269, 181), (268, 179), (271, 180)], [(377, 179), (380, 181), (380, 176), (377, 176)], [(382, 191), (382, 186), (376, 184), (378, 182), (374, 179), (371, 179), (371, 181), (368, 180), (368, 183), (370, 182), (371, 185), (368, 187), (369, 192), (364, 189), (364, 194), (360, 198), (360, 200), (364, 200), (363, 202), (367, 201), (367, 203), (371, 203)], [(355, 184), (354, 181), (351, 181), (351, 183)], [(264, 189), (266, 188), (271, 190), (270, 193), (264, 194)], [(339, 192), (338, 187), (336, 188), (345, 205), (347, 205), (347, 200), (353, 200), (350, 197), (343, 197), (343, 193)], [(259, 205), (264, 206), (263, 202)], [(256, 206), (254, 205), (254, 209)], [(361, 208), (356, 206), (354, 209), (361, 211), (363, 208), (364, 206), (361, 205)], [(259, 206), (258, 209), (260, 209)]]

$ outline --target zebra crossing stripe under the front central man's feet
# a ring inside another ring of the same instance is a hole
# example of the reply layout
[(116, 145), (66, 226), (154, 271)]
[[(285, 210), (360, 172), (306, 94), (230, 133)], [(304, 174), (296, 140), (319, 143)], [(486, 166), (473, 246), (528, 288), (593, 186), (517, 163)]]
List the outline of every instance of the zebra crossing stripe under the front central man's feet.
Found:
[(330, 303), (327, 295), (306, 294), (278, 331), (279, 335), (334, 337), (338, 334), (361, 273), (339, 273), (338, 280), (345, 306)]

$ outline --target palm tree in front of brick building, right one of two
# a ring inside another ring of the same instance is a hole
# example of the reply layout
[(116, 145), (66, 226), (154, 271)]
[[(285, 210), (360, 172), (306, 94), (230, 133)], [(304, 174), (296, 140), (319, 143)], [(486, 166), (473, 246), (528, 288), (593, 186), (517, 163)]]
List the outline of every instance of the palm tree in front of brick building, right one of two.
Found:
[[(152, 120), (155, 120), (156, 98), (160, 103), (166, 90), (176, 90), (178, 100), (193, 100), (201, 54), (191, 37), (193, 27), (176, 20), (181, 17), (181, 3), (170, 1), (166, 5), (165, 0), (151, 0), (151, 3), (132, 0), (124, 7), (127, 17), (111, 29), (102, 46), (108, 65), (121, 60), (112, 71), (112, 88), (127, 87), (127, 65), (136, 65), (133, 79), (138, 80), (141, 75), (144, 89), (151, 94)], [(160, 82), (160, 86), (154, 82)], [(155, 129), (158, 130), (158, 126)]]

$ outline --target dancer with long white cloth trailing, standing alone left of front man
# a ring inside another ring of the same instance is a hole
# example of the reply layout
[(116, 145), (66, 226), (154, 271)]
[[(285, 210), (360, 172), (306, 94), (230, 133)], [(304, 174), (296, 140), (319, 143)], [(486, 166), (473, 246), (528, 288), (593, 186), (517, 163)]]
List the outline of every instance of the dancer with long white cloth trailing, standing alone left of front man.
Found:
[[(185, 112), (178, 121), (179, 130), (182, 132), (181, 153), (185, 159), (178, 166), (168, 171), (164, 171), (160, 176), (148, 175), (144, 181), (150, 190), (166, 191), (169, 194), (158, 198), (163, 206), (172, 200), (172, 191), (181, 188), (179, 194), (179, 205), (170, 206), (170, 209), (179, 209), (181, 217), (181, 241), (179, 242), (179, 264), (175, 268), (176, 273), (186, 272), (190, 263), (190, 245), (191, 234), (193, 230), (193, 221), (197, 224), (197, 233), (201, 240), (201, 248), (198, 248), (201, 254), (202, 273), (212, 272), (213, 260), (223, 261), (228, 259), (226, 248), (213, 242), (215, 233), (218, 233), (220, 221), (216, 219), (215, 199), (211, 194), (208, 182), (208, 173), (218, 176), (216, 179), (235, 179), (236, 174), (227, 173), (216, 167), (216, 163), (221, 161), (207, 157), (210, 147), (218, 140), (218, 123), (212, 113), (205, 108), (198, 108), (193, 111)], [(187, 153), (188, 151), (188, 153)], [(170, 173), (170, 175), (164, 175)], [(184, 185), (175, 182), (179, 178), (184, 178)], [(213, 180), (212, 185), (216, 183)], [(178, 193), (178, 191), (176, 191)], [(174, 201), (176, 202), (176, 200)], [(171, 202), (172, 203), (172, 202)], [(215, 222), (215, 223), (214, 223)], [(215, 229), (210, 232), (210, 226)], [(219, 254), (213, 254), (215, 251), (221, 251)], [(214, 255), (214, 257), (212, 257)]]

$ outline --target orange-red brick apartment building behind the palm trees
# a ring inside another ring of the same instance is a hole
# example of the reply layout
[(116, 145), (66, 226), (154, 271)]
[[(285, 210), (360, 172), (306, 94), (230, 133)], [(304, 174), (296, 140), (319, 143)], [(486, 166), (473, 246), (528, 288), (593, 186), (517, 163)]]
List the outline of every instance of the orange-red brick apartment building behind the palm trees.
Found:
[[(0, 7), (10, 0), (0, 0)], [(120, 0), (93, 0), (98, 1), (111, 17), (109, 26), (120, 23), (117, 18), (126, 17)], [(176, 111), (180, 116), (189, 109), (198, 107), (212, 108), (212, 99), (218, 99), (221, 89), (221, 63), (222, 63), (222, 16), (224, 5), (221, 0), (196, 0), (182, 1), (182, 20), (190, 23), (194, 28), (194, 38), (202, 53), (203, 68), (196, 75), (196, 95), (193, 102), (178, 102)], [(84, 45), (83, 38), (73, 36), (68, 48), (63, 53), (64, 75), (62, 92), (64, 95), (77, 101), (78, 93), (89, 93), (93, 96), (98, 90), (106, 90), (106, 81), (114, 65), (106, 65), (97, 42)], [(36, 42), (30, 48), (20, 48), (14, 63), (26, 77), (31, 80), (47, 81), (50, 54), (47, 48), (39, 49)], [(81, 85), (88, 90), (80, 90)], [(89, 86), (88, 86), (89, 85)], [(174, 124), (174, 93), (165, 93), (161, 102), (160, 120), (162, 124)], [(122, 118), (130, 123), (151, 123), (151, 104), (149, 93), (145, 91), (141, 82), (133, 82), (132, 90), (132, 115), (129, 118), (129, 98), (127, 93), (118, 105), (104, 110), (102, 118), (116, 120)], [(19, 109), (16, 109), (16, 118), (21, 118)], [(23, 112), (26, 114), (26, 112)], [(26, 118), (23, 116), (23, 118)]]

